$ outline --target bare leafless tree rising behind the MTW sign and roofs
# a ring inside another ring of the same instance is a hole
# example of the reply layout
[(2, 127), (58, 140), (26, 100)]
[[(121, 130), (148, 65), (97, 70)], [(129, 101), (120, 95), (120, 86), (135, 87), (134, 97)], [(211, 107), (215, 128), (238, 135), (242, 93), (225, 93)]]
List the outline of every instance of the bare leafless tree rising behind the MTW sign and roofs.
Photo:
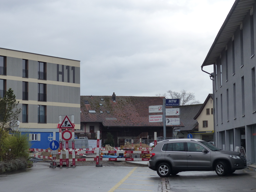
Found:
[(187, 92), (184, 89), (180, 92), (169, 90), (166, 93), (159, 93), (156, 94), (158, 97), (165, 97), (167, 99), (180, 99), (180, 105), (193, 105), (193, 104), (199, 104), (200, 102), (196, 100), (195, 93)]

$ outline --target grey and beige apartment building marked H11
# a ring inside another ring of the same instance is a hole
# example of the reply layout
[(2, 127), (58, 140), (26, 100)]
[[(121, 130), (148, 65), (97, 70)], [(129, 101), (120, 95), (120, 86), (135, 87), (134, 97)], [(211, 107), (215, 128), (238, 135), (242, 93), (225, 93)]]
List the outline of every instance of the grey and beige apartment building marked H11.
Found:
[(57, 128), (60, 115), (80, 129), (80, 61), (0, 48), (0, 97), (12, 88), (19, 128)]

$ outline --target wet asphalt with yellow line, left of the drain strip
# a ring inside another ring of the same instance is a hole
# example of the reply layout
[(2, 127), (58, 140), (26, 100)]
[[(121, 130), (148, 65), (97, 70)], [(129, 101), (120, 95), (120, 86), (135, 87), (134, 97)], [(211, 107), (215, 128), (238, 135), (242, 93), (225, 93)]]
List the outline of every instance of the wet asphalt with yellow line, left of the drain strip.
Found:
[(147, 167), (49, 168), (34, 163), (19, 173), (0, 175), (1, 192), (73, 192), (73, 191), (158, 191), (159, 176)]

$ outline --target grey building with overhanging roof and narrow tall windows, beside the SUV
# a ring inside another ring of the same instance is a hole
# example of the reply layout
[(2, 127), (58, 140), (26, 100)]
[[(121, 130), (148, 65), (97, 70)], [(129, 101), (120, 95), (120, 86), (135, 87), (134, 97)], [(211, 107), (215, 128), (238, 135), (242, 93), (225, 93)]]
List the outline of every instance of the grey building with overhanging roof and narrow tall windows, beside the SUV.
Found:
[[(214, 73), (215, 141), (233, 151), (243, 146), (256, 164), (256, 4), (236, 0), (220, 28), (201, 69)], [(204, 71), (206, 72), (206, 71)]]

